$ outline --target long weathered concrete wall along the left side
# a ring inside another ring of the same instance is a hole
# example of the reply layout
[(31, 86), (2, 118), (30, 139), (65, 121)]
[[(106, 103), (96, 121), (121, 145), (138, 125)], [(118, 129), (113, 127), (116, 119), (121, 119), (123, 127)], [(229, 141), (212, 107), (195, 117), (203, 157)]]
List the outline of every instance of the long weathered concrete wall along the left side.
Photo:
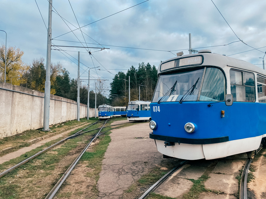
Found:
[[(42, 128), (43, 108), (43, 92), (0, 82), (0, 138)], [(94, 113), (94, 108), (89, 108), (89, 117), (94, 117)], [(50, 96), (49, 125), (74, 120), (76, 116), (76, 101)], [(79, 117), (87, 117), (87, 105), (80, 104)]]

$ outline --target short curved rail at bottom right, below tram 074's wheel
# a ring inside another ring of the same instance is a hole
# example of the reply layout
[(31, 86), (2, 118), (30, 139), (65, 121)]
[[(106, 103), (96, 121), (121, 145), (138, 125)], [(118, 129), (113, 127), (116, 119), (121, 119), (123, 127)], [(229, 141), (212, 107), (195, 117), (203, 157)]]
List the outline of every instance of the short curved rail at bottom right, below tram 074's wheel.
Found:
[(240, 199), (247, 199), (247, 174), (248, 174), (252, 160), (253, 158), (247, 159), (247, 162), (242, 171), (241, 181), (240, 181), (240, 186), (239, 186), (239, 198)]

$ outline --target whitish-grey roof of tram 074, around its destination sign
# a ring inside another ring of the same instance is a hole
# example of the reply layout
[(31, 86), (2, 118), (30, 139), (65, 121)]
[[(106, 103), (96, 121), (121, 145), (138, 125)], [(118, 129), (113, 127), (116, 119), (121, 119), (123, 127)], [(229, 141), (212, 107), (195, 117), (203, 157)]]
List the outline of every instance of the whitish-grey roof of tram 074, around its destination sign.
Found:
[[(167, 62), (171, 62), (173, 60), (178, 60), (178, 59), (183, 59), (187, 57), (203, 57), (202, 58), (202, 63), (201, 64), (194, 64), (194, 65), (185, 65), (185, 66), (178, 66), (175, 68), (171, 69), (166, 69), (164, 71), (160, 71), (161, 65)], [(187, 54), (187, 55), (182, 55), (178, 57), (171, 58), (169, 60), (163, 61), (160, 63), (159, 68), (158, 68), (158, 75), (164, 72), (169, 72), (169, 71), (175, 71), (177, 69), (186, 69), (186, 68), (195, 68), (199, 66), (217, 66), (220, 67), (221, 69), (224, 69), (226, 67), (234, 67), (238, 69), (244, 69), (252, 72), (256, 72), (262, 75), (266, 75), (266, 71), (258, 66), (255, 66), (249, 62), (243, 61), (243, 60), (238, 60), (232, 57), (226, 57), (221, 54), (216, 54), (216, 53), (210, 53), (210, 52), (200, 52), (200, 53), (195, 53), (195, 54)]]

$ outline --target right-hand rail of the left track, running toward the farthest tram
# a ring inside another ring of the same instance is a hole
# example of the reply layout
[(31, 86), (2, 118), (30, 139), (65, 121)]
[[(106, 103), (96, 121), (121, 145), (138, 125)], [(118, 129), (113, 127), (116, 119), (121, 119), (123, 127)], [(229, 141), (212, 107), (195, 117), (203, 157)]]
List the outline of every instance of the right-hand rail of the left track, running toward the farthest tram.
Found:
[[(106, 122), (107, 121), (108, 120), (106, 120)], [(106, 122), (103, 124), (103, 127), (106, 124)], [(77, 162), (79, 161), (81, 156), (85, 153), (85, 151), (91, 145), (91, 143), (94, 141), (94, 139), (96, 139), (99, 136), (99, 133), (100, 133), (100, 131), (102, 130), (103, 127), (100, 128), (99, 132), (91, 139), (91, 141), (86, 145), (86, 147), (82, 150), (82, 152), (78, 155), (78, 157), (76, 157), (74, 162), (70, 165), (70, 167), (63, 174), (63, 176), (58, 180), (58, 182), (55, 184), (55, 186), (52, 188), (52, 190), (48, 193), (48, 195), (45, 197), (45, 199), (52, 199), (55, 196), (55, 194), (57, 193), (58, 189), (61, 187), (61, 185), (67, 179), (68, 175), (73, 170), (74, 166), (77, 164)]]

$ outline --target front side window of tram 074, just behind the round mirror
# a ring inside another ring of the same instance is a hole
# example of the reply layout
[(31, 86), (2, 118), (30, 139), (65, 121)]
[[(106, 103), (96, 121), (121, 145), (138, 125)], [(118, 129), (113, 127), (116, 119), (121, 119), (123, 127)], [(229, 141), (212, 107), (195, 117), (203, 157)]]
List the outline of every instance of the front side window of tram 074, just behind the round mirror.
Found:
[(231, 94), (234, 101), (255, 102), (253, 73), (230, 70)]

